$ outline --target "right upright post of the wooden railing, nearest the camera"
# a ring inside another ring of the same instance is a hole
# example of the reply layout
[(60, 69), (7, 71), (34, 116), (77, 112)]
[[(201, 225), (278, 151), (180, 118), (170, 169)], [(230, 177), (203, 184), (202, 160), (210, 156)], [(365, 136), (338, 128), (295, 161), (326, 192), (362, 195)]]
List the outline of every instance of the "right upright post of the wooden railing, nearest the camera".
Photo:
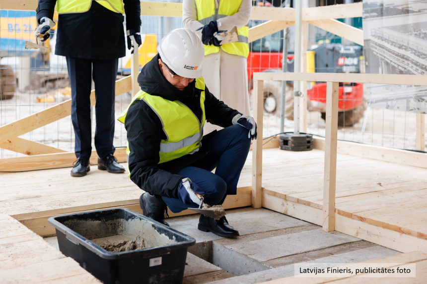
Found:
[(323, 230), (335, 230), (337, 177), (338, 82), (326, 83), (325, 173), (323, 177)]

